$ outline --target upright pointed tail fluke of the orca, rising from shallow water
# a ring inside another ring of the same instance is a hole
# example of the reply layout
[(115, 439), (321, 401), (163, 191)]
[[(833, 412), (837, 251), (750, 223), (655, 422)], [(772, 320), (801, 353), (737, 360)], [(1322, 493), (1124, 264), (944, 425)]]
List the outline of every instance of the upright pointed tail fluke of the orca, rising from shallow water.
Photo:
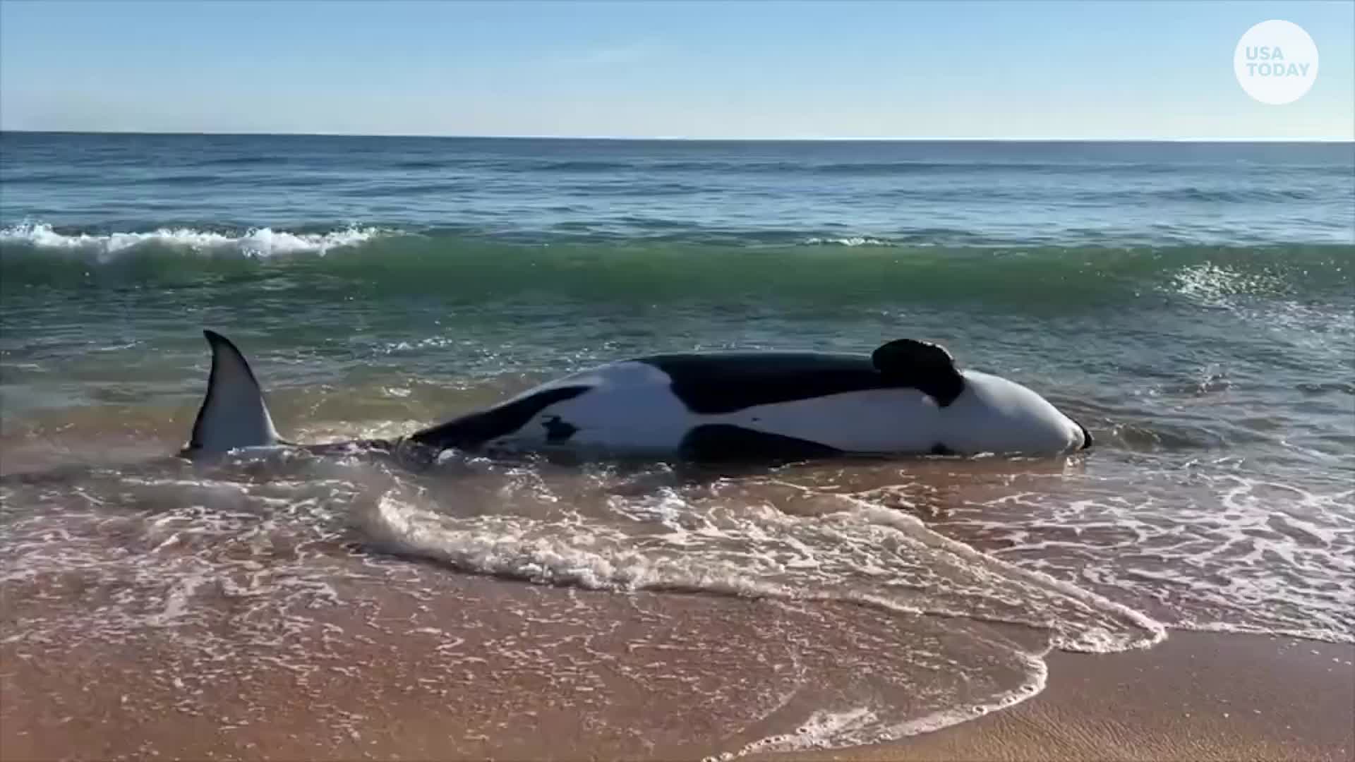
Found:
[(215, 331), (203, 331), (202, 335), (211, 344), (211, 376), (207, 377), (207, 396), (192, 424), (188, 449), (224, 453), (279, 443), (263, 389), (245, 355)]

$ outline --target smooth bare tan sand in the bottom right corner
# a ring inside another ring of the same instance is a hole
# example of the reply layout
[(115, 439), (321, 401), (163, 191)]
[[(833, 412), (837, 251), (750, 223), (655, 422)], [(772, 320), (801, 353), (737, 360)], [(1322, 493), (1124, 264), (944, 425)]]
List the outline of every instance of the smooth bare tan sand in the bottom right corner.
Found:
[(893, 744), (775, 759), (1355, 759), (1352, 645), (1172, 632), (1148, 651), (1047, 662), (1047, 687), (1003, 712)]

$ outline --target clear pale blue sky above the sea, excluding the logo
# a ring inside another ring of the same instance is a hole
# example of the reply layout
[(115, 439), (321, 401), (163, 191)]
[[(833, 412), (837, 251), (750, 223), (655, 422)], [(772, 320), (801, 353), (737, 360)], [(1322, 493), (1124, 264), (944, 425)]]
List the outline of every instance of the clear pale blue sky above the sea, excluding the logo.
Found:
[[(1232, 71), (1275, 18), (1286, 106)], [(0, 0), (0, 129), (1350, 140), (1355, 3)]]

